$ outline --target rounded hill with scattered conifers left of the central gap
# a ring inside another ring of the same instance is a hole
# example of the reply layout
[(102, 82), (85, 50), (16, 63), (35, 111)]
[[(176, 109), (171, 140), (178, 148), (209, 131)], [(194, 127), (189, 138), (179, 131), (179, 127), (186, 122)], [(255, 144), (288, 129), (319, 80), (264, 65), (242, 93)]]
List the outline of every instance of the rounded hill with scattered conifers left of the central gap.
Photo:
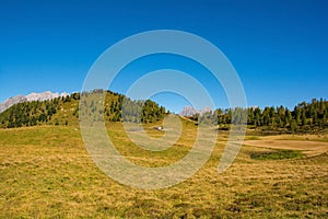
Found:
[[(105, 94), (104, 94), (105, 93)], [(105, 95), (105, 103), (98, 107), (96, 94)], [(19, 103), (0, 114), (1, 128), (35, 125), (70, 125), (79, 123), (81, 95), (84, 111), (94, 120), (153, 123), (164, 118), (166, 110), (153, 101), (132, 101), (112, 91), (94, 90), (73, 93), (48, 101)]]

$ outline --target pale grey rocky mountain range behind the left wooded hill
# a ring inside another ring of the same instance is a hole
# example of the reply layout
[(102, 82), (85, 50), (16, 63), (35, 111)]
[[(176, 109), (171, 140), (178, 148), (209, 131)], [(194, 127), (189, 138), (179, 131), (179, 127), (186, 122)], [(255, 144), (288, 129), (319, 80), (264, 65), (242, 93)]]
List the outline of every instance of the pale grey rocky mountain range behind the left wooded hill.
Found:
[(13, 97), (8, 99), (3, 103), (0, 103), (0, 113), (5, 111), (7, 108), (10, 108), (11, 106), (17, 104), (17, 103), (24, 103), (24, 102), (32, 102), (32, 101), (47, 101), (52, 100), (59, 96), (67, 96), (68, 93), (63, 92), (61, 94), (51, 93), (50, 91), (42, 92), (42, 93), (31, 93), (26, 96), (23, 95), (16, 95)]

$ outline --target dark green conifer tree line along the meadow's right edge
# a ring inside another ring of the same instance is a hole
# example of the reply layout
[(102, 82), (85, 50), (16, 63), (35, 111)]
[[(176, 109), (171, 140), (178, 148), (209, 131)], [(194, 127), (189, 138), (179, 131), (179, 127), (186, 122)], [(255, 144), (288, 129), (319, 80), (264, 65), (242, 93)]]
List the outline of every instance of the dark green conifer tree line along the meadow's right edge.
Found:
[(218, 124), (223, 129), (227, 129), (229, 124), (247, 124), (249, 128), (262, 130), (311, 131), (328, 127), (328, 101), (313, 99), (309, 103), (297, 104), (293, 110), (284, 106), (218, 108), (190, 118), (198, 123)]

